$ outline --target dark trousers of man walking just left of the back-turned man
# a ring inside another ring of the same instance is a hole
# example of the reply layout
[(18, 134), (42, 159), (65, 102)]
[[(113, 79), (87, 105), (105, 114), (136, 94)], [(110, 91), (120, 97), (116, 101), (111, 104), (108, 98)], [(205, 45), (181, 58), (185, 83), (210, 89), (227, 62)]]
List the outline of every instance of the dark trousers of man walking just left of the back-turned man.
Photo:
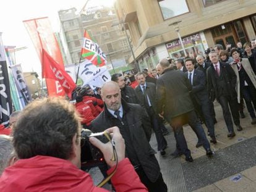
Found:
[(150, 107), (147, 109), (147, 112), (148, 112), (148, 115), (150, 117), (150, 120), (151, 120), (151, 125), (152, 125), (152, 128), (156, 134), (156, 141), (157, 141), (157, 148), (158, 148), (158, 151), (160, 151), (161, 149), (165, 149), (166, 146), (167, 146), (167, 142), (163, 136), (163, 132), (161, 131), (159, 125), (160, 125), (160, 122), (158, 121), (158, 118), (157, 118), (157, 114), (155, 113), (153, 107)]

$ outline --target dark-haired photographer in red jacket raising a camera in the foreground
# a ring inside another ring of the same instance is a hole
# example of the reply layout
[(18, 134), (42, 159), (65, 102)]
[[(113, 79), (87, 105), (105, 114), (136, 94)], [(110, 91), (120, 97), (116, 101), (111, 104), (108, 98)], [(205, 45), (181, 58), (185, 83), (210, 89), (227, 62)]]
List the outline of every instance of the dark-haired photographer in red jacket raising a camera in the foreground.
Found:
[[(129, 159), (124, 158), (124, 140), (117, 127), (109, 128), (113, 144), (96, 138), (90, 143), (103, 152), (116, 191), (147, 191)], [(72, 104), (60, 98), (33, 101), (14, 125), (14, 149), (19, 157), (0, 178), (0, 191), (106, 191), (93, 185), (80, 170), (81, 131), (79, 115)]]

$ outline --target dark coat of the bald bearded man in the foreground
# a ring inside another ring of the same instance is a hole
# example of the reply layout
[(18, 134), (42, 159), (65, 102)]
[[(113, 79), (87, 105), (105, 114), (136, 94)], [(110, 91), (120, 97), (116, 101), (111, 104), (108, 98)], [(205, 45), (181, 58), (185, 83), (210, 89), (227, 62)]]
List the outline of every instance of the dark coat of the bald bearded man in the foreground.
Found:
[[(130, 139), (136, 151), (137, 157), (144, 172), (151, 182), (155, 182), (160, 175), (160, 167), (155, 158), (155, 151), (149, 141), (151, 136), (151, 124), (147, 112), (139, 104), (130, 104), (122, 101), (124, 115), (126, 115)], [(116, 126), (116, 118), (111, 115), (105, 106), (105, 110), (92, 122), (93, 132), (104, 131)]]

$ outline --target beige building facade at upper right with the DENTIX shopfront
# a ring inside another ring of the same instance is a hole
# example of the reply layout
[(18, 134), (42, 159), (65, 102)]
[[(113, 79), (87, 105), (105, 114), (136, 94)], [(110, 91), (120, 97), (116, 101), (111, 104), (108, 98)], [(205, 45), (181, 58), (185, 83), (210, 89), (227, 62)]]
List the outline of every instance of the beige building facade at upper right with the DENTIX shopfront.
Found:
[(256, 0), (117, 0), (114, 7), (130, 31), (140, 70), (256, 37)]

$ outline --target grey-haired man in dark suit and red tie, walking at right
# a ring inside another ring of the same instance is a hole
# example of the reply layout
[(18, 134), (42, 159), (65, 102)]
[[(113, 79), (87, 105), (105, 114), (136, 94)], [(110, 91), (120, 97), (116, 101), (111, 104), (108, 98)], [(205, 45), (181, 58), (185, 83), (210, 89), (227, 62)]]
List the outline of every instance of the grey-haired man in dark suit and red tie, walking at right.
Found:
[(237, 103), (236, 73), (234, 73), (234, 70), (229, 64), (219, 61), (218, 52), (211, 51), (209, 57), (211, 66), (207, 69), (207, 88), (210, 93), (210, 99), (214, 101), (216, 98), (220, 102), (223, 117), (228, 127), (228, 137), (232, 138), (236, 136), (236, 133), (234, 133), (231, 114), (237, 131), (242, 130)]

